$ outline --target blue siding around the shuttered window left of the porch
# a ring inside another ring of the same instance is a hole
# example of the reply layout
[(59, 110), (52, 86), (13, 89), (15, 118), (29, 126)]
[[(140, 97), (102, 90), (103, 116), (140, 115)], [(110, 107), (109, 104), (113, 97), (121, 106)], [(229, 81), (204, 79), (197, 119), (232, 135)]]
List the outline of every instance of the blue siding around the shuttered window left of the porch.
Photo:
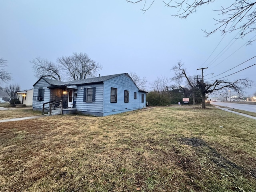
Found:
[[(33, 100), (33, 109), (42, 109), (43, 108), (43, 103), (49, 102), (50, 101), (50, 89), (47, 88), (47, 86), (49, 86), (49, 84), (41, 79), (40, 81), (38, 81), (35, 86), (34, 86), (34, 93), (33, 93), (33, 98), (36, 97), (38, 95), (38, 89), (42, 88), (44, 89), (44, 100), (43, 101), (38, 101), (38, 100)], [(49, 107), (49, 104), (45, 105), (45, 107)]]

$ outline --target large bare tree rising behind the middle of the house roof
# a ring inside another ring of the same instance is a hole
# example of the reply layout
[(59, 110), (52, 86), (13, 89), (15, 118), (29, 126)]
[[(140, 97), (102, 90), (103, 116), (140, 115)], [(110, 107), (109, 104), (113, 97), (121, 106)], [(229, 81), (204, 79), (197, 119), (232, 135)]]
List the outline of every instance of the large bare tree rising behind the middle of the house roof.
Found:
[(92, 60), (85, 53), (73, 53), (72, 56), (62, 56), (57, 58), (57, 63), (62, 66), (68, 79), (80, 80), (88, 77), (94, 77), (102, 66)]

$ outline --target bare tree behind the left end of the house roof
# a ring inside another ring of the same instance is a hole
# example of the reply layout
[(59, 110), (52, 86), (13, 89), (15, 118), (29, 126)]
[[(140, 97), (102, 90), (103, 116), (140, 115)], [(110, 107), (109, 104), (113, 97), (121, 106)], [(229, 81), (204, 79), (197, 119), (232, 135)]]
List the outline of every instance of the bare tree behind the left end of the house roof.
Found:
[(35, 76), (37, 78), (49, 77), (60, 81), (61, 74), (58, 65), (40, 57), (32, 59), (30, 63), (33, 64), (34, 71), (36, 72)]

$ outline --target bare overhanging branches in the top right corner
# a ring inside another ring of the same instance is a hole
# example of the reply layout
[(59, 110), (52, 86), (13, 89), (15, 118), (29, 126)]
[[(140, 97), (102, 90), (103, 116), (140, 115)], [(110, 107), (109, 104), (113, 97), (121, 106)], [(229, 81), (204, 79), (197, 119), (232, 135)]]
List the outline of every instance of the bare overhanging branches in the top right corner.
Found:
[[(155, 0), (126, 0), (127, 2), (138, 3), (144, 2), (143, 11), (148, 10)], [(187, 18), (190, 14), (196, 12), (200, 6), (212, 4), (215, 0), (169, 0), (164, 1), (164, 6), (176, 8), (176, 14), (180, 18)], [(224, 4), (226, 1), (223, 1)], [(220, 1), (221, 3), (221, 1)], [(232, 0), (228, 2), (228, 6), (221, 6), (220, 9), (214, 10), (219, 12), (224, 18), (216, 20), (216, 28), (211, 31), (204, 31), (206, 36), (220, 30), (222, 33), (238, 30), (240, 36), (256, 30), (256, 2), (251, 0)], [(252, 41), (250, 41), (252, 42)]]

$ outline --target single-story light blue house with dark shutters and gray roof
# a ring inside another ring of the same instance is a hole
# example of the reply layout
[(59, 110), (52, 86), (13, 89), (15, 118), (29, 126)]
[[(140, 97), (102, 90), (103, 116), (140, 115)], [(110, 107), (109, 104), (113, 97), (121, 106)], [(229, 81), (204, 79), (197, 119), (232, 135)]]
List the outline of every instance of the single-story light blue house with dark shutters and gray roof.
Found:
[[(146, 107), (146, 92), (127, 73), (61, 82), (41, 77), (34, 85), (33, 110), (63, 100), (63, 114), (107, 116)], [(58, 109), (59, 103), (52, 108)]]

